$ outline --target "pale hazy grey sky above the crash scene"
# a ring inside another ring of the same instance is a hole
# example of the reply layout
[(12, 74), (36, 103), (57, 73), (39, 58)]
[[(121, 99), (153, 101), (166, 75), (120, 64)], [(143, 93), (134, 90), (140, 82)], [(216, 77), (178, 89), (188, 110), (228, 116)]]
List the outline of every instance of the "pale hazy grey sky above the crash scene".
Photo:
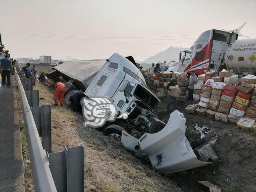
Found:
[(244, 22), (241, 33), (256, 38), (256, 0), (0, 2), (2, 42), (13, 58), (105, 59), (119, 52), (143, 61), (171, 45), (190, 47), (205, 30)]

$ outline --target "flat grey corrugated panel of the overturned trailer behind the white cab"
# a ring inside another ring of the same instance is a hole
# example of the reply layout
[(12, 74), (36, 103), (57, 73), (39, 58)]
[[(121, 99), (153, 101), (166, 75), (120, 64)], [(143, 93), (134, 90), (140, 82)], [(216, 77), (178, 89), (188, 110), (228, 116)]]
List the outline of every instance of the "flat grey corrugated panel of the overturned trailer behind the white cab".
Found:
[[(95, 59), (95, 60), (78, 60), (72, 59), (61, 65), (53, 67), (53, 69), (64, 74), (65, 76), (78, 81), (77, 84), (82, 84), (83, 88), (87, 88), (88, 84), (94, 77), (95, 74), (100, 70), (100, 68), (106, 62), (105, 59)], [(63, 75), (62, 75), (63, 76)], [(81, 86), (79, 86), (81, 87)]]

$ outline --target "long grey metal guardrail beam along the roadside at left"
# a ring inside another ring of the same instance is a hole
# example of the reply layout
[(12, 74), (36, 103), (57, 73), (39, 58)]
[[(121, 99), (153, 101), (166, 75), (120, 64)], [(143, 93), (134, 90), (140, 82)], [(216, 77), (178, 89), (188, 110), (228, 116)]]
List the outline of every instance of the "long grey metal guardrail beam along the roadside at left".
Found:
[(57, 192), (54, 179), (49, 168), (47, 153), (43, 149), (33, 114), (28, 104), (26, 93), (16, 70), (15, 74), (20, 92), (22, 114), (27, 135), (35, 191)]

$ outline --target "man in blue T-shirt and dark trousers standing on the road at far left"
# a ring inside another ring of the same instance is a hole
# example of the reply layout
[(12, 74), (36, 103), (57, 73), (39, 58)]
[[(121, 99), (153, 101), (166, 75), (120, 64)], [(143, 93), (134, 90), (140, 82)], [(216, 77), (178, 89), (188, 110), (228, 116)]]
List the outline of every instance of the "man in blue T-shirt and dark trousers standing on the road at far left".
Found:
[[(10, 74), (13, 71), (13, 65), (9, 59), (9, 55), (5, 55), (5, 58), (0, 60), (0, 67), (2, 67), (2, 86), (4, 87), (6, 83), (6, 86), (10, 87)], [(5, 77), (7, 77), (7, 82), (5, 82)]]

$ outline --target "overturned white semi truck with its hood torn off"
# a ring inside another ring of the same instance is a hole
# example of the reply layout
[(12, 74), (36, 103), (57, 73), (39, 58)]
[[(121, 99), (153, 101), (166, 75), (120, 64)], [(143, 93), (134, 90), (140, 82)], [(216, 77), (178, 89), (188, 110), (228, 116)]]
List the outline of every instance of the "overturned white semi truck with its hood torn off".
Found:
[[(97, 62), (101, 65), (103, 61)], [(160, 100), (146, 86), (142, 73), (132, 63), (132, 59), (115, 53), (104, 61), (97, 72), (91, 70), (92, 74), (89, 74), (85, 71), (87, 77), (83, 79), (78, 79), (75, 73), (70, 76), (62, 66), (65, 68), (65, 63), (54, 67), (57, 70), (55, 76), (62, 75), (64, 80), (70, 79), (78, 89), (84, 87), (84, 99), (106, 97), (116, 106), (117, 118), (107, 121), (98, 129), (104, 135), (117, 138), (136, 156), (148, 156), (156, 170), (168, 175), (218, 162), (211, 147), (216, 135), (188, 141), (185, 136), (186, 119), (182, 113), (177, 110), (173, 112), (167, 124), (157, 118), (155, 111)], [(81, 69), (83, 66), (80, 66), (79, 76), (83, 73)], [(70, 70), (67, 72), (70, 73)], [(109, 113), (106, 104), (99, 105)], [(83, 113), (87, 110), (84, 107)], [(124, 114), (127, 118), (118, 118)]]

